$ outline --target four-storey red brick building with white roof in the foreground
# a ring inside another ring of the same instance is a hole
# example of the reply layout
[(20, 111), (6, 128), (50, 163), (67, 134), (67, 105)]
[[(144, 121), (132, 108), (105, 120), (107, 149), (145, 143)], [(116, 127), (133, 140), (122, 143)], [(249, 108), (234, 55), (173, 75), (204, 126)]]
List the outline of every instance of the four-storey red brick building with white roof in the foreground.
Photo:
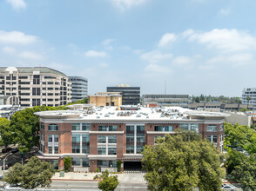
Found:
[(66, 156), (72, 159), (72, 170), (79, 172), (116, 170), (117, 161), (124, 161), (123, 169), (137, 165), (146, 144), (154, 145), (158, 136), (175, 134), (179, 128), (196, 131), (223, 150), (223, 113), (179, 107), (118, 111), (116, 107), (84, 105), (79, 110), (36, 115), (41, 136), (38, 157), (53, 161), (60, 169)]

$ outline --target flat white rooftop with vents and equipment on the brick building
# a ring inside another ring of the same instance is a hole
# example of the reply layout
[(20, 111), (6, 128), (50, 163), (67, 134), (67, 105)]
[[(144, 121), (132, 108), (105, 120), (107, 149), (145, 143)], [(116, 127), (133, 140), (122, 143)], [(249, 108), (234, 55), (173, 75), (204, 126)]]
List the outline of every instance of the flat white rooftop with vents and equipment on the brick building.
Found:
[(35, 113), (43, 118), (66, 118), (71, 120), (93, 120), (93, 121), (166, 121), (166, 120), (190, 120), (197, 118), (224, 118), (229, 114), (220, 112), (195, 111), (180, 107), (145, 108), (138, 110), (117, 110), (117, 107), (97, 107), (81, 110), (53, 110)]

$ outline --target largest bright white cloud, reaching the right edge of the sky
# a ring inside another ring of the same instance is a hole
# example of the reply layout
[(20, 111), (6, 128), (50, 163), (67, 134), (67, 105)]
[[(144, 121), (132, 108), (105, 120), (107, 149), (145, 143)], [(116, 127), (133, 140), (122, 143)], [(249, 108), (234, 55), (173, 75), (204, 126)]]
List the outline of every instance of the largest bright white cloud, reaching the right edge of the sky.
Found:
[(198, 32), (189, 36), (189, 41), (198, 41), (208, 48), (219, 49), (222, 52), (237, 52), (256, 48), (256, 38), (239, 30), (219, 30)]

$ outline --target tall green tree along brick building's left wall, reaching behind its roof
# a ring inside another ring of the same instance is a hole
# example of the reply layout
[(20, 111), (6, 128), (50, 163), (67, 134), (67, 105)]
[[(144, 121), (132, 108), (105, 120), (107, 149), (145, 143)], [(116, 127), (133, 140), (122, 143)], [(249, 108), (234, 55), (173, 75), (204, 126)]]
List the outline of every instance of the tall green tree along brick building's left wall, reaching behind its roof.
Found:
[(17, 111), (10, 119), (10, 130), (15, 135), (13, 143), (18, 144), (21, 152), (28, 152), (39, 143), (39, 117), (35, 112), (45, 110), (64, 110), (65, 107), (36, 106)]

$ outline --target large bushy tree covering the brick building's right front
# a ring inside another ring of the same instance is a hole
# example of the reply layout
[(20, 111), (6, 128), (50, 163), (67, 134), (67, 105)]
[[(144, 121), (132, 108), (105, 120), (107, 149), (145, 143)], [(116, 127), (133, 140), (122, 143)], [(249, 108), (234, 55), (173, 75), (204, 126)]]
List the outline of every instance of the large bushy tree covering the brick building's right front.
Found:
[(196, 133), (183, 134), (165, 135), (155, 146), (145, 146), (142, 163), (148, 189), (219, 190), (224, 175), (219, 151)]

